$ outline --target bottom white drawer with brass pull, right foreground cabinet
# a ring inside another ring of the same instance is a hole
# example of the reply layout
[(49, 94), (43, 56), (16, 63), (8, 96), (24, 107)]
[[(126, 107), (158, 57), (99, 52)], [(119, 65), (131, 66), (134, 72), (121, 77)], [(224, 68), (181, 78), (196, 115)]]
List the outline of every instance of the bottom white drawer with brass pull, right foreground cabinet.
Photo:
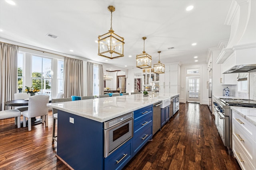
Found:
[(236, 157), (237, 162), (243, 170), (254, 170), (252, 162), (247, 158), (245, 153), (242, 150), (242, 147), (237, 142), (236, 138), (232, 138), (232, 150), (234, 157)]

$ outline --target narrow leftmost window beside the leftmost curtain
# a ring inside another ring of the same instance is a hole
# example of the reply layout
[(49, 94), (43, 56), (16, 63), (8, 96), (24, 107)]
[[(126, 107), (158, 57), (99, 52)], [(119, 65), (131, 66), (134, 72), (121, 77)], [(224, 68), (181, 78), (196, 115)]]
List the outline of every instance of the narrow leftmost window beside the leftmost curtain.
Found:
[(18, 92), (19, 93), (21, 93), (22, 89), (24, 89), (23, 59), (24, 59), (24, 53), (18, 53)]

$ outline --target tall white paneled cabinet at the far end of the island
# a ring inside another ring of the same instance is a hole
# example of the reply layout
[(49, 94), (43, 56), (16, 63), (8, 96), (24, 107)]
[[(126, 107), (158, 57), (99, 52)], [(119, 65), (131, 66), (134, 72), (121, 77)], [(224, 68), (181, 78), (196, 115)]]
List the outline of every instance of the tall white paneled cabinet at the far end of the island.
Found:
[(165, 64), (164, 74), (159, 75), (160, 94), (180, 93), (180, 63)]

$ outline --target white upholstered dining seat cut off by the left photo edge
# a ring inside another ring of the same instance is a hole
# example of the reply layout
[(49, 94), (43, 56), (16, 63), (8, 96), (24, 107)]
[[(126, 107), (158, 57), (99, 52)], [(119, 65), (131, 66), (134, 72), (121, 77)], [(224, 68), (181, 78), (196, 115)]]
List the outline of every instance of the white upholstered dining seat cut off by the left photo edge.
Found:
[(0, 111), (0, 119), (7, 119), (15, 117), (15, 125), (20, 128), (20, 111), (18, 109), (2, 110)]

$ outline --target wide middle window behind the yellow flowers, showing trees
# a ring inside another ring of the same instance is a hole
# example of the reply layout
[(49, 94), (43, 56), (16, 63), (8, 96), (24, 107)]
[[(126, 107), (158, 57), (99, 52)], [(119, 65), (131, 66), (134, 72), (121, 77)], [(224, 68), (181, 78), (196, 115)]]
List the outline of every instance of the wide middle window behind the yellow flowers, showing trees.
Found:
[(49, 95), (52, 90), (52, 59), (32, 55), (32, 86), (41, 89), (38, 94)]

